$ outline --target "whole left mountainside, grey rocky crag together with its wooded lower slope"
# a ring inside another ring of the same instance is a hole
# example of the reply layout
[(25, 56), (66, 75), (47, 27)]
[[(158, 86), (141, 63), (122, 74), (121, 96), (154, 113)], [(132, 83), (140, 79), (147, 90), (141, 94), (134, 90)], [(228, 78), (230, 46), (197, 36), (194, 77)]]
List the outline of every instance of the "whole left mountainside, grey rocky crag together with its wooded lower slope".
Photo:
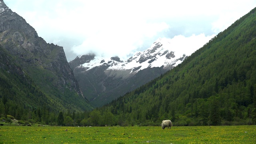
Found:
[[(48, 44), (0, 0), (0, 116), (92, 110), (61, 46)], [(19, 119), (20, 116), (17, 117)], [(27, 118), (26, 118), (27, 119)]]

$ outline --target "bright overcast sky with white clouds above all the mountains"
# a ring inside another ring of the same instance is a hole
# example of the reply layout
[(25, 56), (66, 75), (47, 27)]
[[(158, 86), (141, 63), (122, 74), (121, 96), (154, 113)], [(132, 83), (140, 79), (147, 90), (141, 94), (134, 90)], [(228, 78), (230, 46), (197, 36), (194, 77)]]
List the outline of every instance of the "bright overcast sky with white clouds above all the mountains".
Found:
[(191, 53), (256, 7), (256, 0), (4, 2), (46, 42), (63, 46), (68, 62), (90, 52), (126, 60), (158, 38)]

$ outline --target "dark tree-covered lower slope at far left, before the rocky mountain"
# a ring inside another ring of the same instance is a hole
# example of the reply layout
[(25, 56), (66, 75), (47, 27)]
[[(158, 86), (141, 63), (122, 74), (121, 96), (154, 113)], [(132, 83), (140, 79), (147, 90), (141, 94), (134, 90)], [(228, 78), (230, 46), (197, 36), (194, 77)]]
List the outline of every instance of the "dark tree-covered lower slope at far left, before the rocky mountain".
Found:
[[(58, 104), (36, 86), (22, 67), (0, 45), (0, 116), (12, 115), (18, 120), (24, 112), (37, 108), (58, 110)], [(55, 101), (56, 102), (56, 101)], [(26, 109), (26, 110), (24, 110)], [(26, 115), (26, 113), (25, 113)]]

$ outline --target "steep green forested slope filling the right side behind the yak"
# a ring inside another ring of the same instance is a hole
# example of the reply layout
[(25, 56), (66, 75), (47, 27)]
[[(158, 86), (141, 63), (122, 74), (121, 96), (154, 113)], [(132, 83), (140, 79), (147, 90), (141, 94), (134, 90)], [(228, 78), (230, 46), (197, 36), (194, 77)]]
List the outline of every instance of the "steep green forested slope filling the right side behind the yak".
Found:
[[(95, 111), (116, 124), (174, 126), (256, 122), (256, 8), (182, 64)], [(253, 121), (252, 121), (253, 120)]]

